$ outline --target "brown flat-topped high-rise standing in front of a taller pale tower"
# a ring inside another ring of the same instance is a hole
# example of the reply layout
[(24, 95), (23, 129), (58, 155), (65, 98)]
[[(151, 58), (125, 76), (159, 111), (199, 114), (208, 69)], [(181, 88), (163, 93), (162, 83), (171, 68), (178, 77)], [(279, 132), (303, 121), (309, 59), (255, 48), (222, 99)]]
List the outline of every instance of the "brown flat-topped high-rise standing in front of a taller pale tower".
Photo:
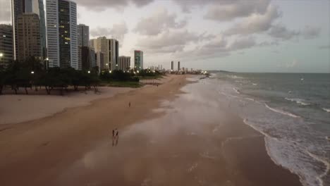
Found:
[(39, 16), (36, 13), (23, 13), (16, 21), (19, 51), (16, 59), (24, 61), (32, 56), (41, 59)]

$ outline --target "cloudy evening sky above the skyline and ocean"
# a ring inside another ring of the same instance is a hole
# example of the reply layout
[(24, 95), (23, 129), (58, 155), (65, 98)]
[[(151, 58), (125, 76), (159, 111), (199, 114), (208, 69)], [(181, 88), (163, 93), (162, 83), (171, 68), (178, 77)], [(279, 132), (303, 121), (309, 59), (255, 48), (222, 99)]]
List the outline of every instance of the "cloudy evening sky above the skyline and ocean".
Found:
[[(90, 39), (118, 39), (144, 67), (330, 73), (330, 0), (75, 0)], [(0, 23), (10, 23), (0, 0)]]

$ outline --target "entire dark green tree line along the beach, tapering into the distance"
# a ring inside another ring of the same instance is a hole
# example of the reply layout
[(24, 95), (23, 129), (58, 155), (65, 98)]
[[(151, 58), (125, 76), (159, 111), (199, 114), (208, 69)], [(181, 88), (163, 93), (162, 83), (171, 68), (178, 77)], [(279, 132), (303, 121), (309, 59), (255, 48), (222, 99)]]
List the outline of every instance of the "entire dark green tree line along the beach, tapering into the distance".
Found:
[(122, 70), (102, 71), (98, 72), (98, 68), (92, 70), (75, 70), (74, 68), (46, 68), (46, 64), (39, 61), (37, 58), (31, 57), (26, 61), (13, 61), (6, 68), (0, 66), (0, 94), (4, 87), (10, 87), (15, 94), (20, 88), (25, 89), (25, 94), (28, 94), (28, 89), (35, 88), (35, 91), (44, 87), (47, 94), (51, 94), (53, 89), (68, 91), (68, 87), (73, 87), (78, 90), (78, 87), (90, 89), (97, 87), (101, 82), (139, 82), (139, 77), (158, 77), (161, 75), (158, 71), (149, 69), (135, 71), (128, 70), (124, 73)]

